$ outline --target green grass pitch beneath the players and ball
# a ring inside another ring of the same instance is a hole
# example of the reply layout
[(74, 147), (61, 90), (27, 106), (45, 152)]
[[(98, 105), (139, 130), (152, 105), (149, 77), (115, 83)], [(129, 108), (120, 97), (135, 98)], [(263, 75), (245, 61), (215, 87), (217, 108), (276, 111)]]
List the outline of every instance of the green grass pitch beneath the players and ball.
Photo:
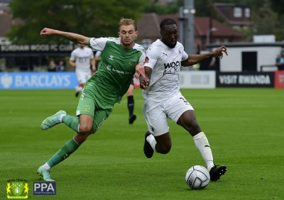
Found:
[(143, 155), (146, 123), (141, 90), (135, 90), (133, 125), (126, 97), (99, 131), (52, 170), (56, 196), (33, 196), (35, 170), (74, 135), (60, 124), (40, 130), (60, 109), (75, 114), (73, 90), (0, 91), (0, 199), (8, 179), (27, 179), (28, 199), (284, 199), (284, 91), (182, 89), (212, 146), (214, 162), (228, 172), (201, 191), (185, 183), (192, 165), (204, 165), (192, 137), (169, 121), (168, 155)]

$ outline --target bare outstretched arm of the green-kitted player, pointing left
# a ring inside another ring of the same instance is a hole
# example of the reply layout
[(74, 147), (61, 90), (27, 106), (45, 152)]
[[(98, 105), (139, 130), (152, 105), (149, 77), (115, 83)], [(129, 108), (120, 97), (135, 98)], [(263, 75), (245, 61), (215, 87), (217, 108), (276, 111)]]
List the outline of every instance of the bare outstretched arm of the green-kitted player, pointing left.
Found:
[(70, 33), (70, 32), (65, 32), (61, 30), (55, 30), (51, 28), (43, 28), (43, 30), (40, 31), (40, 36), (45, 38), (48, 35), (58, 35), (62, 38), (66, 38), (67, 40), (70, 40), (74, 43), (77, 44), (82, 44), (82, 45), (89, 45), (89, 38), (87, 38), (84, 35), (80, 35), (77, 33)]

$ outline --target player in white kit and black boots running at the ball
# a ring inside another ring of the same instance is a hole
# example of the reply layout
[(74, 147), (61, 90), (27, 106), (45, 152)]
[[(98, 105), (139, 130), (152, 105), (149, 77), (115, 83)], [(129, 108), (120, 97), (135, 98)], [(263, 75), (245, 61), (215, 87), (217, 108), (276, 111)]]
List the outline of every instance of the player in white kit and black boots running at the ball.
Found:
[(161, 21), (160, 35), (161, 38), (146, 50), (144, 67), (148, 79), (141, 79), (145, 99), (143, 114), (148, 124), (144, 153), (150, 158), (154, 151), (162, 154), (170, 151), (170, 118), (192, 135), (195, 146), (207, 164), (211, 180), (217, 181), (226, 172), (226, 166), (214, 165), (212, 150), (195, 119), (195, 111), (180, 93), (179, 73), (181, 66), (195, 65), (208, 57), (222, 58), (223, 53), (227, 55), (226, 47), (221, 46), (204, 55), (187, 55), (183, 45), (178, 42), (177, 23), (170, 18)]

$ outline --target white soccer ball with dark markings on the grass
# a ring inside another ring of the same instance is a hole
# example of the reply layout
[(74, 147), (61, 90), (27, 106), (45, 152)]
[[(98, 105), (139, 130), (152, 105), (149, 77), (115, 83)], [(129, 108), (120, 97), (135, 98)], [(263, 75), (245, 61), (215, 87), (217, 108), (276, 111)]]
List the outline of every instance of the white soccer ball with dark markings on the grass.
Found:
[(210, 174), (205, 167), (195, 165), (187, 170), (185, 182), (191, 189), (204, 189), (210, 182)]

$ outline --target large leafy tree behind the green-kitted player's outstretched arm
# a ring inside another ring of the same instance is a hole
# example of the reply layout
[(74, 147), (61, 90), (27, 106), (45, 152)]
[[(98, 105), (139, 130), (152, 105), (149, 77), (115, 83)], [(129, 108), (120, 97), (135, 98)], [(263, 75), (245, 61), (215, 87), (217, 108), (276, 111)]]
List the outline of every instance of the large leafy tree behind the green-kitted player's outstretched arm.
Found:
[[(117, 36), (120, 18), (138, 19), (148, 0), (13, 0), (13, 18), (23, 23), (6, 35), (12, 43), (67, 43), (58, 37), (40, 38), (44, 27), (89, 37)], [(130, 9), (130, 8), (135, 9)]]

